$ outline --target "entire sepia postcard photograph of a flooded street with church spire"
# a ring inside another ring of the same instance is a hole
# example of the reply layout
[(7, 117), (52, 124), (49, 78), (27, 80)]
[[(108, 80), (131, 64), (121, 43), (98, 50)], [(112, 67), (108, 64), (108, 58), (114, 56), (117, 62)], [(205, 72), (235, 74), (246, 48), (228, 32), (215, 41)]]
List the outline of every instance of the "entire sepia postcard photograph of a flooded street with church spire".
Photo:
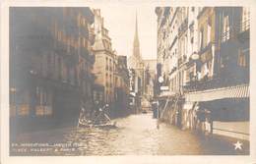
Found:
[(250, 157), (252, 9), (191, 5), (8, 7), (6, 154)]

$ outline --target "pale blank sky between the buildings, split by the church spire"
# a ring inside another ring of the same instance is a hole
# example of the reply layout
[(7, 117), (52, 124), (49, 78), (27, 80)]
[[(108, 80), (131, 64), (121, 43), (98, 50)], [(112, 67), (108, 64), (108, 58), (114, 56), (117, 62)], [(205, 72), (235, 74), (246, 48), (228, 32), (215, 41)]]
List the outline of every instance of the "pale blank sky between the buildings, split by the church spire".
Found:
[(133, 52), (135, 16), (137, 11), (141, 54), (144, 59), (157, 58), (157, 15), (155, 7), (105, 6), (101, 7), (104, 27), (109, 30), (112, 47), (118, 55), (130, 56)]

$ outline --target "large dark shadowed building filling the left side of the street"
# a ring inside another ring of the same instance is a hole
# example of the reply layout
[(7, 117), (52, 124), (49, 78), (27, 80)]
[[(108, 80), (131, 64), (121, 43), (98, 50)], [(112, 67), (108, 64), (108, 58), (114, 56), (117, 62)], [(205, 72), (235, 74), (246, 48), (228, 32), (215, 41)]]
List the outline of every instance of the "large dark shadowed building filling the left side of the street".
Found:
[(11, 131), (74, 125), (92, 105), (93, 23), (90, 8), (10, 8)]

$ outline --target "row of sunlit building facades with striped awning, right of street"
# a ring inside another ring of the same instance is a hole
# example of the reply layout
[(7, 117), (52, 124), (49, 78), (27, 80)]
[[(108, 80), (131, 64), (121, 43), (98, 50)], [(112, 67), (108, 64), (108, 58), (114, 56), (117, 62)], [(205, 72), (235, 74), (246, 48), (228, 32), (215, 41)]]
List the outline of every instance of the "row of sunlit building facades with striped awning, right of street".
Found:
[[(220, 129), (215, 127), (221, 125), (220, 122), (247, 125), (249, 10), (243, 7), (164, 7), (157, 8), (156, 13), (158, 65), (164, 79), (160, 84), (169, 86), (168, 97), (179, 97), (180, 102), (165, 99), (166, 119), (174, 120), (170, 122), (178, 123), (183, 129), (200, 129), (212, 134)], [(174, 20), (177, 21), (175, 32)], [(168, 60), (165, 56), (172, 55), (173, 51), (177, 52), (176, 57)], [(233, 131), (237, 135), (235, 128)]]

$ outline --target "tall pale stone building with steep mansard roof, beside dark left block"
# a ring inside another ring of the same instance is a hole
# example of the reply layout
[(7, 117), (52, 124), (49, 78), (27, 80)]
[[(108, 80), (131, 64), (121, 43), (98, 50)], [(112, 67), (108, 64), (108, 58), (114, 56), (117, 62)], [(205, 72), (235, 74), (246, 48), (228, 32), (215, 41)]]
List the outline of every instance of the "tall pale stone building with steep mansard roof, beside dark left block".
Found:
[(102, 102), (112, 103), (114, 101), (114, 70), (115, 56), (112, 49), (111, 38), (108, 35), (108, 29), (104, 27), (104, 20), (99, 9), (94, 10), (95, 24), (94, 30), (96, 39), (94, 44), (94, 53), (96, 62), (93, 73), (96, 76), (96, 90), (100, 90)]

